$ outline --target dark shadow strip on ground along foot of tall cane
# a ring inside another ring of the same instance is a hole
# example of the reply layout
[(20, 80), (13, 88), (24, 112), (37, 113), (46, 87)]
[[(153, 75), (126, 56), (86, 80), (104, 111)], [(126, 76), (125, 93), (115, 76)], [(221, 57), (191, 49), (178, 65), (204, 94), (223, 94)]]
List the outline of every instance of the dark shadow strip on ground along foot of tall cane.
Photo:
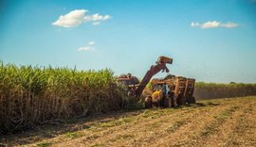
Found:
[(91, 127), (102, 122), (110, 122), (119, 118), (137, 116), (142, 111), (143, 109), (119, 110), (116, 112), (90, 115), (82, 119), (69, 119), (63, 122), (51, 122), (50, 124), (48, 123), (45, 125), (37, 126), (29, 130), (24, 130), (23, 132), (1, 135), (0, 147), (5, 145), (24, 145), (43, 139), (51, 139), (69, 132), (90, 129)]

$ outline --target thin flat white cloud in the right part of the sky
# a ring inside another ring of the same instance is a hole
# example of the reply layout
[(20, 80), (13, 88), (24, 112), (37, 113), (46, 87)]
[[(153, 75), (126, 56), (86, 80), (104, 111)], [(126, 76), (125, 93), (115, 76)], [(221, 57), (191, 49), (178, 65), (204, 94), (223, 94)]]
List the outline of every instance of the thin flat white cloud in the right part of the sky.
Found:
[(206, 22), (204, 24), (199, 24), (199, 23), (194, 23), (192, 22), (191, 24), (192, 27), (200, 27), (202, 29), (207, 29), (207, 28), (214, 28), (214, 27), (226, 27), (226, 28), (231, 28), (231, 27), (237, 27), (238, 24), (235, 23), (227, 23), (227, 24), (223, 24), (221, 22), (217, 22), (217, 21), (212, 21), (212, 22)]

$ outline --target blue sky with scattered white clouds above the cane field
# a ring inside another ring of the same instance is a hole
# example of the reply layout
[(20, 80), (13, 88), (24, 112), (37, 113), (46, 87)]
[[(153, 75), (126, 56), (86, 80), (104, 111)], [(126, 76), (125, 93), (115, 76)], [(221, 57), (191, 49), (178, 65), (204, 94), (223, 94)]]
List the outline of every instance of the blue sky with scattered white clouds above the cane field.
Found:
[(0, 20), (5, 63), (142, 78), (164, 55), (172, 74), (256, 82), (255, 0), (2, 0)]

